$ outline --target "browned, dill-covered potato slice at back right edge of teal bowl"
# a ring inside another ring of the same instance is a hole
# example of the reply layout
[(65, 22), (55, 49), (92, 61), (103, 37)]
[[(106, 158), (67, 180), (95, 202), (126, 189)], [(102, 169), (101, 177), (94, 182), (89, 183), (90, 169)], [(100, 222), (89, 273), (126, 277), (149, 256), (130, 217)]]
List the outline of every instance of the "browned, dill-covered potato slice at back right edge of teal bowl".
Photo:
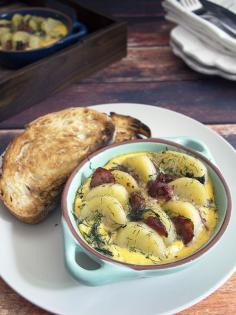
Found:
[(207, 180), (205, 165), (190, 155), (175, 151), (163, 151), (155, 154), (154, 161), (164, 173), (194, 177), (202, 183)]

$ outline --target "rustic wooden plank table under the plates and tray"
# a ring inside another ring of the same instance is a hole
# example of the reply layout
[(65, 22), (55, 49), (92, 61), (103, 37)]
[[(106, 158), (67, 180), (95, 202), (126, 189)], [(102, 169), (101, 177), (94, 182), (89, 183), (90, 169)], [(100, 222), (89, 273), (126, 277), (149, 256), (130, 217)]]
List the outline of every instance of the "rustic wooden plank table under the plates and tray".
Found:
[[(163, 17), (161, 1), (80, 2), (128, 22), (127, 58), (1, 122), (0, 151), (39, 115), (69, 106), (110, 102), (145, 103), (175, 110), (207, 124), (236, 147), (235, 82), (198, 74), (172, 54), (168, 42), (173, 25)], [(0, 315), (14, 314), (49, 313), (20, 297), (0, 279)], [(180, 314), (236, 314), (236, 275)]]

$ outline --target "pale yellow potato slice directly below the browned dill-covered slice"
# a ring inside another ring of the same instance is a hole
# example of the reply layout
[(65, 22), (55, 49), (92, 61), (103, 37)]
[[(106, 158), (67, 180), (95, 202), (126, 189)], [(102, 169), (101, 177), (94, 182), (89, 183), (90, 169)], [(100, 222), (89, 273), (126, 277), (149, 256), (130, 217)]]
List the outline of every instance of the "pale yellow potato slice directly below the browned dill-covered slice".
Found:
[(203, 184), (193, 178), (181, 177), (170, 182), (174, 195), (180, 200), (204, 206), (207, 203), (208, 195)]

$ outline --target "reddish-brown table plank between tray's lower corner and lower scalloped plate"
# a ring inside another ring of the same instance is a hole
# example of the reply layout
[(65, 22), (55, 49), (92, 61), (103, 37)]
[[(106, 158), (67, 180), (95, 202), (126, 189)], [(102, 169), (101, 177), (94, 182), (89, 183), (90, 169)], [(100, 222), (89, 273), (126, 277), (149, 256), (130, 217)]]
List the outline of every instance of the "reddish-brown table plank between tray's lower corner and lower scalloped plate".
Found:
[(116, 62), (84, 83), (163, 82), (204, 80), (206, 76), (191, 70), (170, 47), (131, 47), (121, 62)]

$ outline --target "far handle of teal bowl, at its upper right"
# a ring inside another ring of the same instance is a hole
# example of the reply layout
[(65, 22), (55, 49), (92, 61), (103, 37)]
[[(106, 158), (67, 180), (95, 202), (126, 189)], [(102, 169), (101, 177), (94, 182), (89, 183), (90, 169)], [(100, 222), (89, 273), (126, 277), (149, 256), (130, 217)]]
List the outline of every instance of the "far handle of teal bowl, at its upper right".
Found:
[(215, 160), (211, 154), (211, 151), (208, 149), (208, 147), (203, 143), (202, 141), (199, 141), (195, 138), (189, 138), (189, 137), (168, 137), (165, 138), (166, 140), (172, 140), (174, 142), (177, 142), (179, 144), (182, 144), (194, 151), (197, 151), (207, 157), (211, 162), (215, 164)]

